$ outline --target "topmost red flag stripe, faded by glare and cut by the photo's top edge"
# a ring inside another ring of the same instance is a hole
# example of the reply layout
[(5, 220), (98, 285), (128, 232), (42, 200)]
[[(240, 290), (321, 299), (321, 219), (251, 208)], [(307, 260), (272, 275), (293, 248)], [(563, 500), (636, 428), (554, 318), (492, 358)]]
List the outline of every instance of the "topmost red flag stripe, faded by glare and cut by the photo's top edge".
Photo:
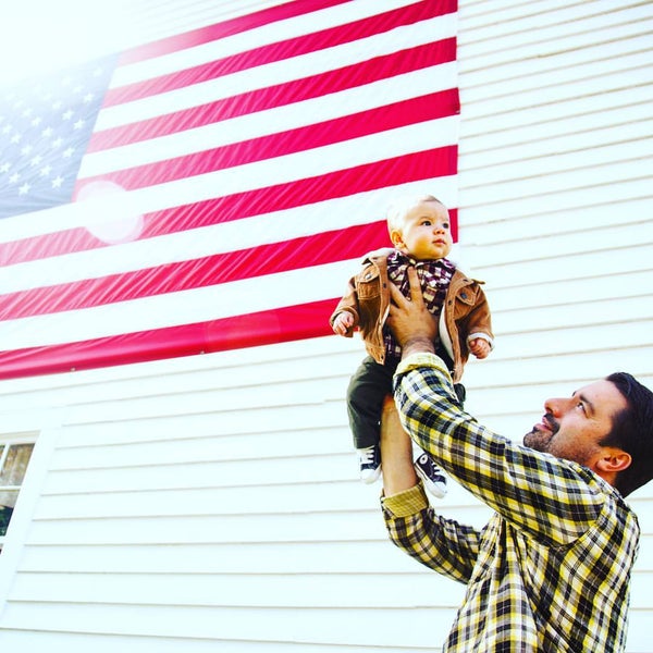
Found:
[(344, 4), (349, 0), (293, 0), (279, 7), (271, 7), (263, 9), (251, 14), (238, 16), (237, 19), (231, 19), (222, 23), (209, 25), (208, 27), (200, 27), (199, 29), (193, 29), (178, 34), (171, 37), (165, 37), (157, 41), (147, 44), (146, 46), (138, 46), (126, 50), (120, 59), (120, 64), (125, 65), (128, 63), (136, 63), (146, 59), (152, 59), (155, 57), (162, 57), (163, 54), (170, 54), (172, 52), (178, 52), (187, 48), (194, 48), (214, 41), (219, 38), (225, 38), (256, 27), (269, 25), (270, 23), (276, 23), (279, 21), (285, 21), (300, 16), (303, 14), (312, 13), (330, 7), (336, 7), (337, 4)]

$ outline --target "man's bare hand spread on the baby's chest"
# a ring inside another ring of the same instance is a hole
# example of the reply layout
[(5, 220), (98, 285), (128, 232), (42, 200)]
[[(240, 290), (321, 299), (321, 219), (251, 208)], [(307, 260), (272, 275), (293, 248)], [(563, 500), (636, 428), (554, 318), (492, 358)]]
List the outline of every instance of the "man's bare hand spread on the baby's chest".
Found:
[(387, 324), (399, 343), (404, 357), (417, 352), (434, 353), (438, 323), (424, 306), (415, 268), (408, 268), (408, 282), (410, 299), (404, 297), (394, 284), (390, 285), (392, 304)]

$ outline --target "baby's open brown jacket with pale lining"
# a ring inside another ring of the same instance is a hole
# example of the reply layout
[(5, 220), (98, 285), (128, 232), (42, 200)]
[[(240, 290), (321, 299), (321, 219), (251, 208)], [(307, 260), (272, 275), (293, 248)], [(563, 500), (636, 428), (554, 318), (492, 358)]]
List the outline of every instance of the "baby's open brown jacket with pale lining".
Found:
[[(337, 313), (344, 310), (350, 312), (354, 325), (347, 337), (352, 337), (354, 330), (359, 328), (367, 353), (381, 365), (385, 361), (383, 325), (390, 309), (387, 255), (391, 251), (380, 249), (364, 258), (362, 270), (349, 280), (345, 295), (329, 319), (333, 325)], [(481, 336), (491, 345), (494, 341), (490, 307), (482, 284), (482, 281), (456, 270), (446, 293), (439, 335), (454, 361), (452, 375), (455, 383), (463, 377), (463, 368), (469, 358), (468, 338)]]

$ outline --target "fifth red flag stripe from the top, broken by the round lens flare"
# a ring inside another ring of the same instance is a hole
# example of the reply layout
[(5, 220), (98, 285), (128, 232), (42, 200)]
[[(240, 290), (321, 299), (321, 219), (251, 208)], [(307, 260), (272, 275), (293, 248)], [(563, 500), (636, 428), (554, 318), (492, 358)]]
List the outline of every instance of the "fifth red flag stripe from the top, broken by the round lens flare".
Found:
[[(147, 213), (144, 215), (145, 227), (140, 238), (295, 208), (306, 204), (307, 199), (313, 204), (386, 186), (454, 175), (457, 172), (457, 146), (452, 145)], [(264, 202), (260, 201), (261, 197), (266, 198)], [(0, 264), (13, 266), (107, 246), (86, 229), (75, 227), (0, 243)]]

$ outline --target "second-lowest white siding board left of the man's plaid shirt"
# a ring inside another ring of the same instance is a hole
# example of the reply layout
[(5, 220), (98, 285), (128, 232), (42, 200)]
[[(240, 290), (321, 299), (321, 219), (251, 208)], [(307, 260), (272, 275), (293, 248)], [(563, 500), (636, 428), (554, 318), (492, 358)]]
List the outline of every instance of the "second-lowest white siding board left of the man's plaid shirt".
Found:
[[(410, 651), (411, 648), (423, 650), (424, 646), (441, 645), (454, 615), (453, 609), (432, 607), (353, 611), (144, 605), (135, 618), (133, 606), (12, 602), (5, 609), (4, 623), (14, 629), (54, 632), (212, 638), (218, 646), (224, 645), (227, 651), (232, 640), (366, 645), (381, 651), (384, 646), (398, 646), (402, 651)], [(38, 628), (35, 628), (35, 619)]]

